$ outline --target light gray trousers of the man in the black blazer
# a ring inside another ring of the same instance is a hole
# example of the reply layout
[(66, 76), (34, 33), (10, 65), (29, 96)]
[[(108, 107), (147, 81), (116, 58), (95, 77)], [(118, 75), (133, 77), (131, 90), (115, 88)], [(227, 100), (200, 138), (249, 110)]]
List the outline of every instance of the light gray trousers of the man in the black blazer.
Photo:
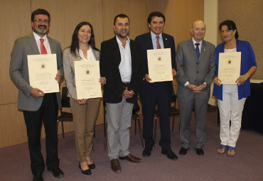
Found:
[(108, 156), (112, 160), (129, 155), (129, 128), (134, 104), (122, 98), (122, 102), (106, 103), (106, 106)]

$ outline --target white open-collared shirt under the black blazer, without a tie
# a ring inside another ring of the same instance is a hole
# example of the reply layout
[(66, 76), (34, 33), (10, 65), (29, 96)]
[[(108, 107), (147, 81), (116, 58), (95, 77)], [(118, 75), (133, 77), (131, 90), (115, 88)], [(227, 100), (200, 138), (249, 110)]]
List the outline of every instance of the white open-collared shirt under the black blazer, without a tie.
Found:
[(127, 36), (125, 48), (122, 46), (122, 42), (116, 36), (117, 43), (119, 45), (119, 52), (121, 53), (121, 62), (119, 63), (119, 73), (122, 78), (122, 82), (129, 83), (132, 78), (132, 56), (131, 49), (129, 47), (129, 37)]

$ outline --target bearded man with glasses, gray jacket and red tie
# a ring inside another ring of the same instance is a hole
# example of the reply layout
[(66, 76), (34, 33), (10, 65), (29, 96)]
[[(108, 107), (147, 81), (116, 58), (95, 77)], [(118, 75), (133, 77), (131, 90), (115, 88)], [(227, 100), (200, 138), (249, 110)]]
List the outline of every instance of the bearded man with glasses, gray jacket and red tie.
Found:
[[(31, 87), (28, 77), (27, 55), (56, 54), (58, 72), (54, 77), (58, 83), (63, 78), (63, 62), (60, 43), (49, 38), (50, 14), (44, 9), (37, 9), (31, 14), (33, 33), (18, 38), (11, 53), (9, 74), (18, 87), (18, 109), (23, 110), (28, 135), (28, 148), (31, 159), (33, 180), (43, 180), (45, 165), (54, 177), (63, 177), (58, 159), (58, 137), (56, 121), (58, 106), (61, 107), (60, 93), (45, 94), (37, 87)], [(41, 154), (41, 125), (45, 126), (46, 160)]]

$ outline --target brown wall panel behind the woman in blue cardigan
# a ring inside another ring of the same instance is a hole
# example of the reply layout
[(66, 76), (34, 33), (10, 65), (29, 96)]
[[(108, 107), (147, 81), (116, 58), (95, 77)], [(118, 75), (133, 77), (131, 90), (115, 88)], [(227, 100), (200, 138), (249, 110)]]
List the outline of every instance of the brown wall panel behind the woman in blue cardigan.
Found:
[[(227, 19), (235, 22), (240, 37), (239, 40), (248, 41), (254, 50), (257, 60), (257, 72), (252, 79), (263, 79), (263, 1), (218, 1), (218, 26)], [(222, 43), (222, 35), (218, 30), (218, 44)]]

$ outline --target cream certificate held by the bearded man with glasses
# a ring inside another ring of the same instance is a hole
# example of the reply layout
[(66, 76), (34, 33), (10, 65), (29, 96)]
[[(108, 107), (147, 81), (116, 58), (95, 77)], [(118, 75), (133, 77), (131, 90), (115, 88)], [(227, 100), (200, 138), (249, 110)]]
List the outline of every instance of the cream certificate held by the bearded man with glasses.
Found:
[(57, 55), (28, 55), (28, 75), (31, 87), (44, 93), (59, 92), (55, 76), (58, 72)]

